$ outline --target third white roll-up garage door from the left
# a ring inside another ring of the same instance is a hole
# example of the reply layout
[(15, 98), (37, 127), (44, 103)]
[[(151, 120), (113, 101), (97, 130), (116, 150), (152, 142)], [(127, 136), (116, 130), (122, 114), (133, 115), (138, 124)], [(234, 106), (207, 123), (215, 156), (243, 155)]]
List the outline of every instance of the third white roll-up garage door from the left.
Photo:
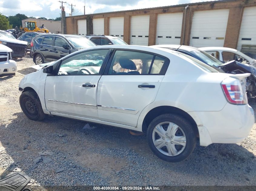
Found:
[(124, 17), (111, 17), (109, 19), (109, 34), (124, 39)]

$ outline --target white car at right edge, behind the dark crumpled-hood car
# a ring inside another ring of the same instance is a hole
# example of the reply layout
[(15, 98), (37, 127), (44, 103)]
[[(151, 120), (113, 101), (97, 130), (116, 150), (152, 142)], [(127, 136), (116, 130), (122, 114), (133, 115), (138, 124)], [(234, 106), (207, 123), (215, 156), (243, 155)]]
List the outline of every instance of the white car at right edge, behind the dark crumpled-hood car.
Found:
[(241, 62), (242, 64), (250, 64), (256, 67), (255, 59), (245, 55), (244, 53), (241, 53), (236, 49), (226, 47), (202, 47), (199, 49), (207, 52), (208, 54), (211, 54), (211, 56), (214, 56), (224, 63), (235, 60)]

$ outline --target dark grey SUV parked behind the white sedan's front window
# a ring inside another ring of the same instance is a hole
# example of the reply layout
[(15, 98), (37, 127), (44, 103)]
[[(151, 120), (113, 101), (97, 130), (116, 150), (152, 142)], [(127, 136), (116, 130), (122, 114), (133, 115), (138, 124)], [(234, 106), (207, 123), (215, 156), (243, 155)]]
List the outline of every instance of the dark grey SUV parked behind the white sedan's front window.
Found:
[(77, 50), (96, 46), (85, 37), (71, 34), (43, 34), (31, 41), (30, 57), (35, 64), (52, 62)]

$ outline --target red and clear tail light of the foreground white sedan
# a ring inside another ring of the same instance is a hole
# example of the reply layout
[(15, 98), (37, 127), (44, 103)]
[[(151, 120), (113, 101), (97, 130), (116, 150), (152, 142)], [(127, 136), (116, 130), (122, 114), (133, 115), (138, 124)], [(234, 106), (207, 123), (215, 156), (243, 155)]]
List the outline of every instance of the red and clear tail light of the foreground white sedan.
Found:
[(246, 91), (238, 79), (226, 78), (222, 81), (221, 86), (229, 103), (236, 105), (248, 103)]

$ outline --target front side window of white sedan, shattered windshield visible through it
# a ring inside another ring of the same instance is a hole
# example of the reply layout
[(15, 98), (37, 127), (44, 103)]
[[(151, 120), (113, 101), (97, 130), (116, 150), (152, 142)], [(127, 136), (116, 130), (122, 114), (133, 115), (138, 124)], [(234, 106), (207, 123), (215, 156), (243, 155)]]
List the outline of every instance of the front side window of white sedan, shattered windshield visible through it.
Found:
[(107, 53), (108, 49), (75, 54), (62, 61), (58, 75), (97, 75)]

